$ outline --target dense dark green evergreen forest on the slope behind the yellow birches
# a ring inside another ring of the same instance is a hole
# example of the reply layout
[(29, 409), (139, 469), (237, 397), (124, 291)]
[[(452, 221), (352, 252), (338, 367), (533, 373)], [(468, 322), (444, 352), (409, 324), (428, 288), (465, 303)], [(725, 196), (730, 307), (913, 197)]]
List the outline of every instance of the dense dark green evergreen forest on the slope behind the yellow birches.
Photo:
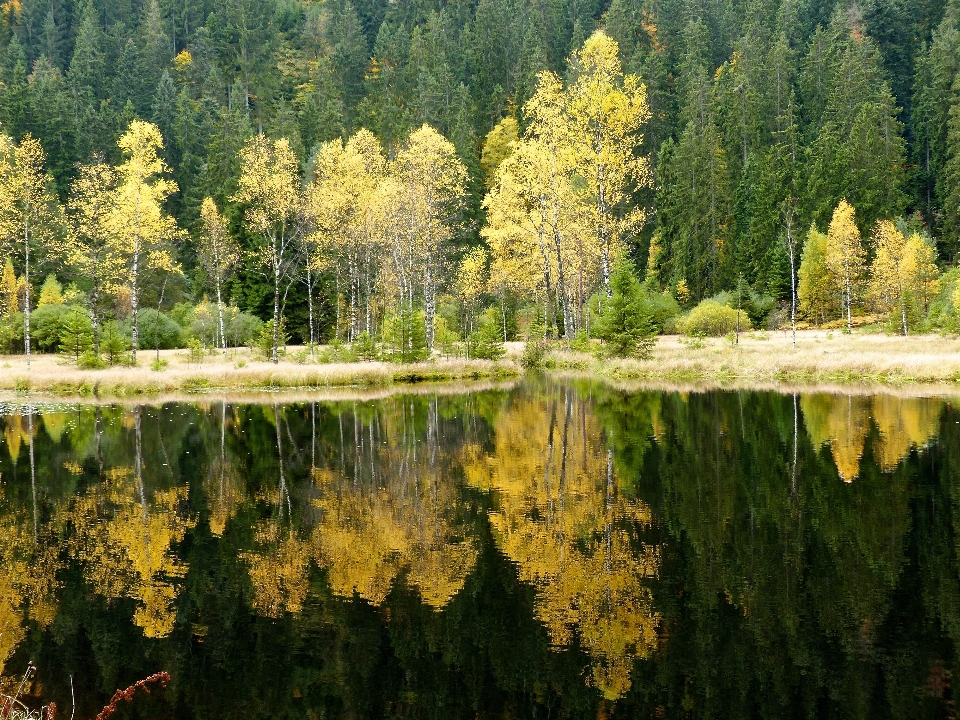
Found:
[[(575, 83), (578, 49), (602, 29), (623, 71), (644, 83), (649, 109), (632, 136), (649, 174), (617, 209), (643, 208), (645, 218), (627, 228), (624, 247), (641, 278), (681, 305), (742, 283), (788, 301), (785, 232), (802, 245), (811, 224), (826, 230), (842, 199), (865, 238), (877, 221), (901, 218), (904, 237), (924, 237), (941, 266), (960, 250), (958, 0), (8, 0), (0, 8), (0, 128), (14, 141), (27, 133), (39, 141), (60, 201), (80, 164), (120, 163), (118, 139), (147, 120), (159, 128), (160, 159), (177, 188), (166, 209), (194, 237), (209, 196), (241, 248), (253, 244), (241, 150), (258, 133), (285, 138), (307, 174), (323, 143), (366, 129), (392, 161), (429, 124), (463, 169), (462, 201), (447, 223), (451, 262), (462, 267), (472, 248), (492, 242), (484, 197), (497, 184), (495, 150), (510, 136), (504, 119), (516, 120), (513, 133), (529, 132), (538, 73)], [(185, 273), (163, 285), (167, 305), (211, 292), (195, 243), (179, 243), (176, 260)], [(14, 257), (18, 272), (20, 264)], [(74, 279), (53, 269), (64, 284)], [(303, 328), (313, 282), (320, 337), (335, 323), (339, 332), (338, 281), (320, 272), (287, 290), (295, 335), (312, 334)], [(557, 310), (578, 329), (590, 295), (580, 285), (580, 319), (576, 308)], [(148, 283), (144, 303), (157, 303), (160, 288)], [(274, 290), (244, 266), (224, 299), (267, 319)], [(497, 302), (503, 315), (504, 298)]]

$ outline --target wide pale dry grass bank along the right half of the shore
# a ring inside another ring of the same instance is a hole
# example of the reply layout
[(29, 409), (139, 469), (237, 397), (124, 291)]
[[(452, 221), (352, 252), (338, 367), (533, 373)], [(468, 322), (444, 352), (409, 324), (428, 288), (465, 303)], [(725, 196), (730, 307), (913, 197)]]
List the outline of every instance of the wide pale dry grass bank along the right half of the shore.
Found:
[(723, 338), (660, 338), (649, 360), (604, 360), (585, 353), (553, 353), (558, 369), (617, 380), (668, 380), (713, 385), (960, 383), (960, 338), (805, 330), (746, 333), (740, 344)]

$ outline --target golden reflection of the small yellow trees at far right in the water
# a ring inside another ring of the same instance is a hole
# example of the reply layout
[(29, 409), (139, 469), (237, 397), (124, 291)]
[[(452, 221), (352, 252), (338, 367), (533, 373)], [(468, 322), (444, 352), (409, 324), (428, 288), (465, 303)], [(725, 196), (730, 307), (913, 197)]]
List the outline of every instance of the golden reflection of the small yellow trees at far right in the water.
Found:
[(801, 397), (800, 407), (813, 446), (829, 442), (837, 472), (844, 482), (853, 482), (860, 474), (871, 417), (880, 431), (874, 454), (881, 469), (889, 472), (911, 448), (925, 446), (934, 436), (942, 404), (888, 395), (816, 394)]

